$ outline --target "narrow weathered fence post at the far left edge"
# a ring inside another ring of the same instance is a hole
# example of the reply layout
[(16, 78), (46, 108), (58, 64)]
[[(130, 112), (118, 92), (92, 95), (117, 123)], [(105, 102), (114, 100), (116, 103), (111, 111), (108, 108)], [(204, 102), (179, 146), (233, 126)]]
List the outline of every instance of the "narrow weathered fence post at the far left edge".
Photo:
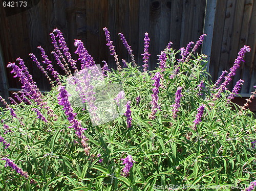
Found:
[(8, 91), (8, 80), (6, 75), (5, 61), (2, 52), (2, 44), (0, 42), (0, 88), (3, 98), (7, 99), (9, 97)]

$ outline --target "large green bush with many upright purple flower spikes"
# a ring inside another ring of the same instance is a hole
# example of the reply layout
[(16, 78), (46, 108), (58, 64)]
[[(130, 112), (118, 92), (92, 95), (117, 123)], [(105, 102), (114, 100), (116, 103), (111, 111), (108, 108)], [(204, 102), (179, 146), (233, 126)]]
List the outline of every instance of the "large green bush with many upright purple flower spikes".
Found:
[[(255, 92), (244, 107), (239, 107), (230, 100), (239, 92), (243, 80), (232, 91), (226, 88), (249, 47), (242, 47), (230, 73), (223, 71), (213, 84), (204, 67), (205, 56), (196, 54), (205, 35), (178, 51), (168, 43), (159, 55), (159, 66), (148, 71), (147, 33), (143, 68), (137, 66), (131, 46), (119, 34), (132, 60), (131, 63), (123, 60), (126, 66), (122, 68), (110, 33), (106, 28), (103, 30), (118, 70), (110, 71), (104, 62), (102, 72), (94, 67), (91, 74), (82, 78), (72, 76), (72, 71), (82, 73), (95, 63), (80, 40), (75, 40), (80, 63), (73, 60), (58, 29), (50, 34), (54, 45), (52, 54), (65, 76), (55, 71), (42, 47), (38, 47), (42, 59), (30, 54), (52, 84), (51, 91), (44, 94), (39, 91), (22, 59), (17, 59), (19, 66), (8, 64), (23, 89), (13, 94), (12, 105), (1, 98), (6, 105), (0, 115), (1, 188), (254, 189), (256, 120), (246, 108)], [(96, 85), (89, 84), (91, 78)], [(67, 88), (70, 79), (77, 84), (75, 97), (86, 108), (74, 106), (70, 99), (74, 97)], [(111, 102), (95, 91), (98, 83), (120, 82), (122, 89), (116, 96), (106, 92)], [(110, 108), (121, 107), (122, 99), (127, 100), (122, 106), (124, 111), (118, 109), (115, 115)], [(103, 104), (95, 104), (99, 100)], [(98, 110), (114, 117), (95, 125), (92, 118), (95, 122), (99, 120)]]

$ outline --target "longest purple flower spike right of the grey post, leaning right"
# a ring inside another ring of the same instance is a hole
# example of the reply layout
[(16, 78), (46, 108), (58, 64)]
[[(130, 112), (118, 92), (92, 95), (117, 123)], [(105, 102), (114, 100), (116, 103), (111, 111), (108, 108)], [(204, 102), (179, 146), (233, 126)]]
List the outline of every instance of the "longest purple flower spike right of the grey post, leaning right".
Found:
[(218, 88), (218, 92), (216, 94), (214, 94), (214, 100), (216, 100), (217, 98), (220, 98), (221, 92), (223, 92), (224, 89), (227, 89), (226, 86), (229, 84), (229, 82), (232, 80), (232, 77), (234, 75), (236, 75), (236, 71), (237, 69), (240, 67), (240, 63), (241, 62), (245, 62), (243, 60), (244, 55), (246, 52), (250, 52), (250, 47), (249, 46), (244, 46), (242, 47), (242, 49), (239, 51), (238, 53), (238, 57), (237, 59), (234, 61), (234, 65), (233, 67), (231, 67), (229, 70), (230, 72), (228, 73), (228, 75), (225, 77), (224, 82), (220, 85), (220, 87)]

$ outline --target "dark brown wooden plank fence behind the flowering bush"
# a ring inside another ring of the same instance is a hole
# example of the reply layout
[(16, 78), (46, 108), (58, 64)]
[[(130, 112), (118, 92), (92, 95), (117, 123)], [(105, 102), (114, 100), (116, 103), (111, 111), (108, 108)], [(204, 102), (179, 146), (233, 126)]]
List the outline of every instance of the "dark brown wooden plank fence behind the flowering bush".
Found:
[[(74, 59), (77, 59), (77, 55), (74, 54), (74, 39), (81, 39), (96, 63), (105, 60), (113, 68), (116, 65), (105, 45), (102, 28), (109, 29), (119, 57), (130, 61), (118, 36), (119, 32), (124, 34), (132, 46), (138, 65), (142, 65), (143, 38), (144, 33), (148, 32), (151, 39), (151, 69), (156, 67), (157, 55), (169, 41), (173, 42), (176, 50), (179, 50), (189, 41), (196, 41), (205, 29), (206, 0), (36, 0), (31, 2), (26, 9), (4, 8), (1, 5), (2, 53), (0, 54), (2, 56), (0, 58), (2, 59), (0, 60), (2, 66), (6, 67), (8, 62), (14, 62), (18, 57), (23, 58), (42, 90), (48, 90), (49, 83), (28, 55), (34, 53), (39, 59), (37, 46), (41, 45), (51, 60), (54, 60), (50, 54), (53, 46), (49, 33), (56, 27), (66, 38)], [(210, 8), (215, 9), (215, 7)], [(244, 79), (242, 93), (250, 93), (253, 85), (256, 84), (255, 14), (254, 0), (217, 0), (212, 46), (206, 47), (210, 50), (209, 73), (212, 81), (215, 81), (222, 70), (228, 70), (232, 66), (239, 49), (244, 44), (251, 46), (245, 64), (230, 85), (232, 87), (238, 79)], [(56, 64), (54, 67), (59, 70)], [(6, 70), (9, 89), (19, 88), (20, 84), (12, 78), (10, 69)], [(3, 70), (1, 72), (5, 73)], [(5, 81), (2, 80), (1, 88), (4, 87), (3, 84)]]

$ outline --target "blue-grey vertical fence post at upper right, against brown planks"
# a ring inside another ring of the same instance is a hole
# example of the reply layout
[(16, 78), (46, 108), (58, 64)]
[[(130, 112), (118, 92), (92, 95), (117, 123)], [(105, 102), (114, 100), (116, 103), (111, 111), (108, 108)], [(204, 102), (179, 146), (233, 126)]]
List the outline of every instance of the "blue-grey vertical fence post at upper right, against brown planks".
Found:
[(217, 0), (206, 1), (203, 31), (204, 31), (204, 34), (206, 34), (207, 36), (205, 37), (205, 40), (203, 42), (202, 54), (207, 55), (207, 64), (205, 66), (207, 72), (209, 72), (209, 67), (210, 67), (211, 44), (212, 44), (212, 37), (214, 35), (216, 4), (217, 4)]

